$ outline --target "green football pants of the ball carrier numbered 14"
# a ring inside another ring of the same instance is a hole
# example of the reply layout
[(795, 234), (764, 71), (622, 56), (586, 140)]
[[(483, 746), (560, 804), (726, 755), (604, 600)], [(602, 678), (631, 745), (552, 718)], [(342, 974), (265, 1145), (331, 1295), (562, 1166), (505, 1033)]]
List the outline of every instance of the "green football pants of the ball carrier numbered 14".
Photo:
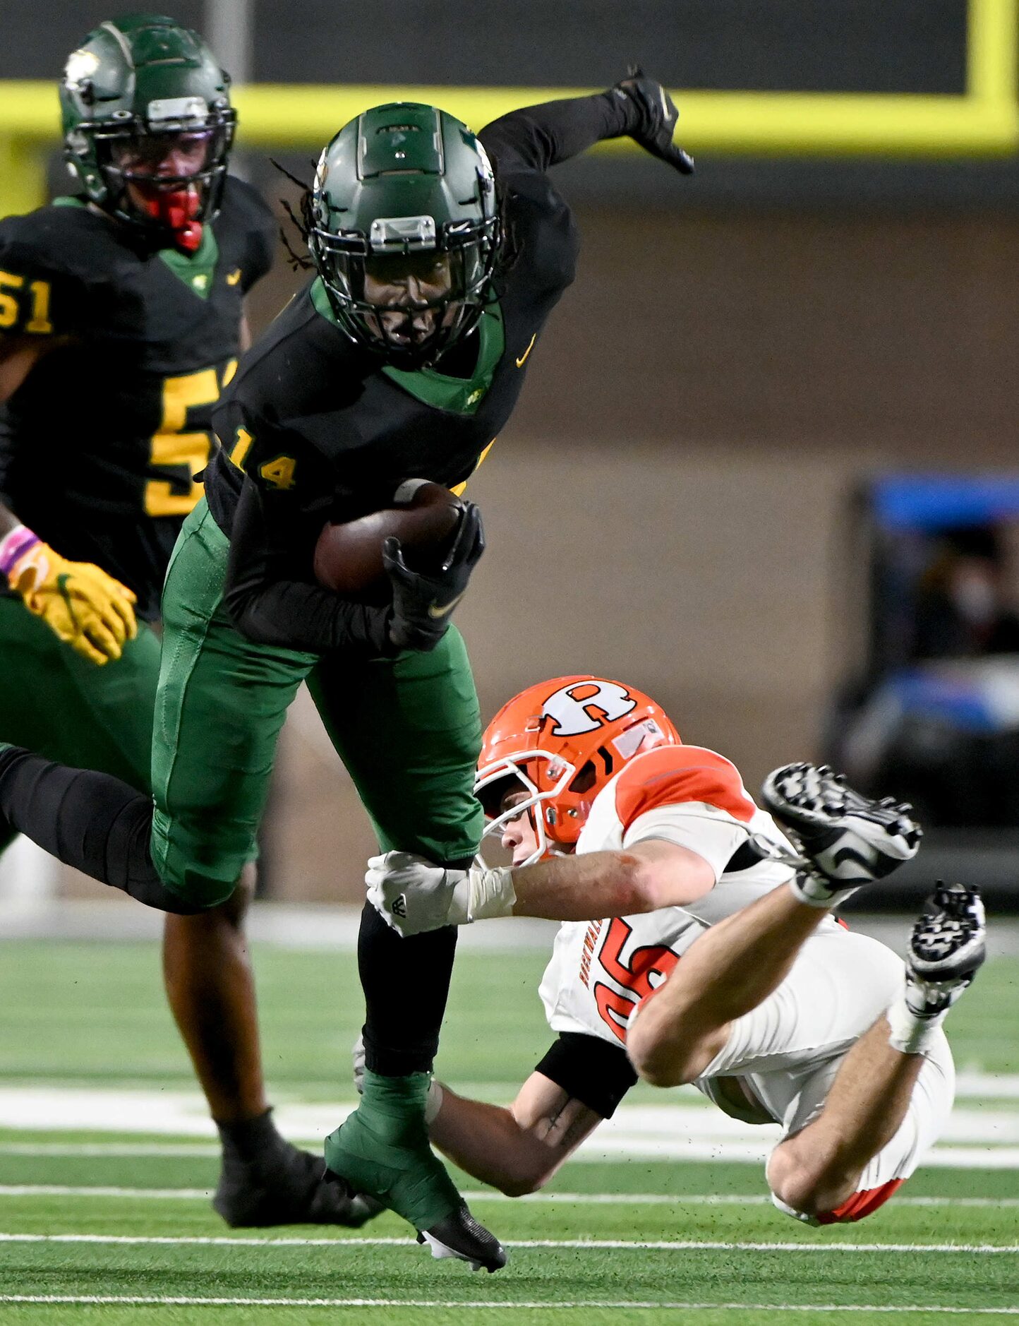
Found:
[(163, 591), (152, 737), (152, 859), (167, 887), (211, 907), (254, 853), (276, 743), (301, 682), (347, 766), (383, 850), (470, 857), (481, 744), (470, 664), (451, 627), (431, 654), (319, 658), (253, 644), (223, 605), (228, 541), (200, 501)]

